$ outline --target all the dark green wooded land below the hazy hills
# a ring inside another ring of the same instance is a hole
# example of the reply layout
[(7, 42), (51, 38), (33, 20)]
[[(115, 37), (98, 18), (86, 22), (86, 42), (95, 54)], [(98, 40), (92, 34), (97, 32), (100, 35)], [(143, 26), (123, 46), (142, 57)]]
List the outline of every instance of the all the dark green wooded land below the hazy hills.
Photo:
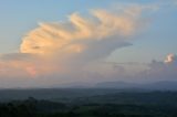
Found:
[(177, 92), (103, 91), (1, 102), (0, 117), (177, 117)]

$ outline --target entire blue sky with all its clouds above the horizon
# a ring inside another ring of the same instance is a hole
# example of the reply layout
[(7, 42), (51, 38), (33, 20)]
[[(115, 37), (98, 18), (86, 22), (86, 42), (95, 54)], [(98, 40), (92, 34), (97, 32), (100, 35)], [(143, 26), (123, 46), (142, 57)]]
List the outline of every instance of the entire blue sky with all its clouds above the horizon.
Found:
[(0, 87), (177, 77), (176, 0), (0, 0)]

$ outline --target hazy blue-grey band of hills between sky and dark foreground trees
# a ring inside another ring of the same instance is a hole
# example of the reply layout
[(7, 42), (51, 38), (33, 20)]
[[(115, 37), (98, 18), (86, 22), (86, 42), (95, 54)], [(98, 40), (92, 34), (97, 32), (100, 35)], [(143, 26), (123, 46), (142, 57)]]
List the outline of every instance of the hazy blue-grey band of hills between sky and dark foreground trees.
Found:
[(127, 82), (103, 82), (97, 84), (71, 83), (58, 85), (58, 87), (43, 88), (0, 88), (0, 102), (11, 99), (37, 99), (63, 100), (77, 97), (91, 97), (98, 95), (111, 95), (117, 93), (147, 93), (147, 92), (177, 92), (176, 81), (160, 81), (155, 83), (127, 83)]

